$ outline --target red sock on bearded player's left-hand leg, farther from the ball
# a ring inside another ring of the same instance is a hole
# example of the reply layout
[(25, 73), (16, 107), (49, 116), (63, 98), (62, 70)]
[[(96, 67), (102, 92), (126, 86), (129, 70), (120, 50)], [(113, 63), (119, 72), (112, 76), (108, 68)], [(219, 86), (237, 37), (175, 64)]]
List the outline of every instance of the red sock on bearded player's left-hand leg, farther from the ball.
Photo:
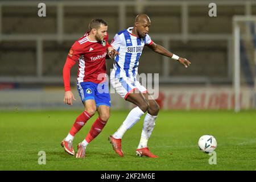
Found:
[(90, 114), (86, 111), (83, 111), (79, 117), (76, 118), (76, 121), (69, 131), (69, 133), (74, 137), (79, 130), (85, 125), (85, 123), (90, 119)]

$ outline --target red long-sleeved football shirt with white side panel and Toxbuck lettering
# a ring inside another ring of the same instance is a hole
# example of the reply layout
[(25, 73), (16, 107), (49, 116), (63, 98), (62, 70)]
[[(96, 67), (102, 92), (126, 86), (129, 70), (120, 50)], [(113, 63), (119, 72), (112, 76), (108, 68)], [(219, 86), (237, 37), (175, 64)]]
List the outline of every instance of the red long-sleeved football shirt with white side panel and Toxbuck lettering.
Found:
[(105, 36), (102, 42), (90, 41), (88, 35), (89, 32), (86, 32), (84, 36), (77, 40), (68, 53), (67, 61), (63, 68), (65, 91), (70, 90), (70, 69), (76, 62), (79, 63), (78, 82), (89, 81), (98, 84), (106, 77), (106, 55), (107, 48), (110, 46), (108, 35)]

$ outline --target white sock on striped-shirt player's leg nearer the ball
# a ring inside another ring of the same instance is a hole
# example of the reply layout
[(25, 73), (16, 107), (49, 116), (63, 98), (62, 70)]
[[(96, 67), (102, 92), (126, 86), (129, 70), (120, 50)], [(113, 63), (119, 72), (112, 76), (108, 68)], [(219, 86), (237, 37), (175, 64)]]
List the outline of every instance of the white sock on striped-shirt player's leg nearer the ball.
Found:
[(142, 133), (141, 133), (141, 140), (139, 141), (138, 148), (147, 147), (148, 139), (150, 138), (152, 131), (155, 127), (156, 117), (157, 117), (156, 115), (150, 115), (148, 113), (146, 114), (144, 118)]

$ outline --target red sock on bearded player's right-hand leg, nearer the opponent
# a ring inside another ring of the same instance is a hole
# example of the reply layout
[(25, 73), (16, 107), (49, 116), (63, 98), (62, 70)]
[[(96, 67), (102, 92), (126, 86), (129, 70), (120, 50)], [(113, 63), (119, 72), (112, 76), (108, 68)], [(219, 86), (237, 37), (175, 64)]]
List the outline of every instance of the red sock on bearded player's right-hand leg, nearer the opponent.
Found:
[(88, 135), (85, 138), (86, 142), (90, 143), (94, 138), (96, 138), (98, 134), (101, 133), (101, 130), (104, 128), (105, 125), (106, 121), (103, 121), (100, 117), (98, 117), (93, 123), (92, 128), (90, 129)]

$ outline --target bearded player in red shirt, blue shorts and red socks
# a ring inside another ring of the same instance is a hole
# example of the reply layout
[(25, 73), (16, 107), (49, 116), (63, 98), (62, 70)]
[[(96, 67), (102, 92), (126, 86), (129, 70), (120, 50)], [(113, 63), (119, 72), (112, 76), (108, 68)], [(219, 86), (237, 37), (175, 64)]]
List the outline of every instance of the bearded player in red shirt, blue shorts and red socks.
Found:
[(100, 134), (109, 119), (110, 95), (108, 80), (106, 79), (107, 53), (113, 57), (118, 54), (108, 43), (108, 26), (102, 19), (93, 19), (89, 24), (89, 31), (77, 40), (69, 50), (63, 68), (63, 81), (65, 88), (64, 103), (72, 105), (75, 100), (70, 88), (70, 71), (78, 63), (77, 90), (84, 104), (84, 111), (76, 118), (61, 146), (68, 154), (75, 155), (73, 138), (85, 123), (96, 113), (99, 117), (93, 123), (88, 135), (77, 145), (76, 158), (85, 157), (85, 148)]

